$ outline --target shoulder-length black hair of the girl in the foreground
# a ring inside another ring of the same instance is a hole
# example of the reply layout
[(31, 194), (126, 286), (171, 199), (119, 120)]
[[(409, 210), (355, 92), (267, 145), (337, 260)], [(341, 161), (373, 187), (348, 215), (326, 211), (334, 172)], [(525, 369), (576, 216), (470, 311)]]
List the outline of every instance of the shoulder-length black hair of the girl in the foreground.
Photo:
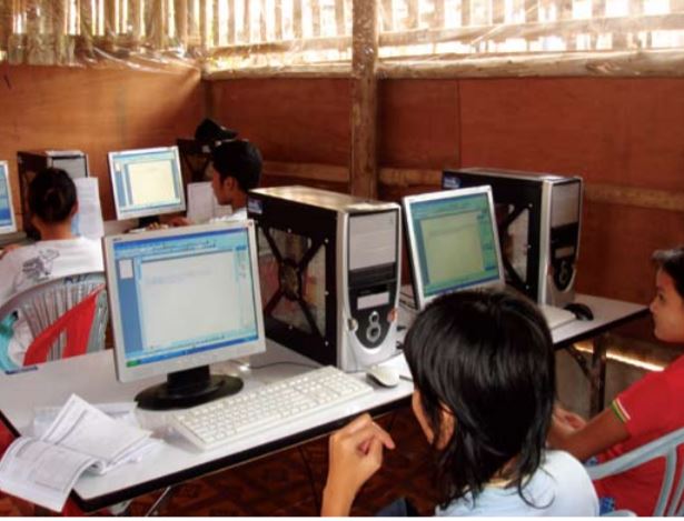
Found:
[[(536, 307), (504, 291), (452, 293), (416, 318), (404, 349), (435, 433), (442, 507), (475, 500), (502, 471), (532, 504), (524, 480), (542, 463), (555, 397), (553, 341)], [(455, 427), (440, 448), (445, 407)]]

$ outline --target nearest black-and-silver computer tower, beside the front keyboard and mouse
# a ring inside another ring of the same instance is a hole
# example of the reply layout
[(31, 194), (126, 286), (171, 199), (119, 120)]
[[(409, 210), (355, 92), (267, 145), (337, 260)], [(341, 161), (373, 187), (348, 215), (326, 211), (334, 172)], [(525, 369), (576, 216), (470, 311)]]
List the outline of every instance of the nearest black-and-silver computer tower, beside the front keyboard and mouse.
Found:
[(399, 206), (307, 187), (252, 190), (266, 335), (361, 370), (396, 352)]

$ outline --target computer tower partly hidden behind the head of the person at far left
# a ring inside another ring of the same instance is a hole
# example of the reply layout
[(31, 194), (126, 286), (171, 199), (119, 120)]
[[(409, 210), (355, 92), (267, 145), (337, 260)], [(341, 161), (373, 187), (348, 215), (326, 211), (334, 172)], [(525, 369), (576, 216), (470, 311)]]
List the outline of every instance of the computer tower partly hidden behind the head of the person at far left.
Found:
[(89, 176), (88, 156), (80, 150), (20, 151), (17, 152), (17, 166), (23, 231), (30, 238), (38, 239), (38, 230), (31, 223), (29, 208), (29, 184), (36, 172), (52, 167), (65, 170), (71, 179), (86, 178)]

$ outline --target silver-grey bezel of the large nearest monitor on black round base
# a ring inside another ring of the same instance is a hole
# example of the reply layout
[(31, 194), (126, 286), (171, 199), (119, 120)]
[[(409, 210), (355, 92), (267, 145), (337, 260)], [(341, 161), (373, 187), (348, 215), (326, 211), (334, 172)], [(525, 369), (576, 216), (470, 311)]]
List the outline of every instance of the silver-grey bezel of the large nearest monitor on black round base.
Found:
[[(126, 242), (146, 241), (149, 239), (195, 236), (198, 233), (230, 231), (235, 229), (247, 229), (249, 257), (251, 269), (252, 292), (255, 299), (255, 314), (257, 320), (257, 339), (242, 344), (227, 345), (210, 351), (202, 351), (184, 357), (177, 357), (159, 362), (151, 362), (141, 365), (126, 365), (126, 341), (123, 337), (122, 315), (119, 308), (119, 288), (117, 284), (116, 259), (113, 246)], [(254, 221), (240, 222), (219, 222), (214, 224), (201, 224), (192, 227), (172, 228), (159, 231), (148, 231), (143, 233), (129, 233), (122, 236), (109, 236), (103, 241), (105, 270), (107, 273), (107, 288), (109, 298), (109, 313), (111, 319), (113, 340), (115, 340), (115, 365), (117, 379), (120, 382), (131, 382), (151, 377), (165, 377), (171, 372), (184, 371), (187, 369), (209, 365), (217, 362), (232, 360), (249, 354), (266, 351), (266, 337), (264, 330), (264, 313), (261, 312), (261, 290), (259, 283), (259, 269), (257, 257), (257, 242)]]

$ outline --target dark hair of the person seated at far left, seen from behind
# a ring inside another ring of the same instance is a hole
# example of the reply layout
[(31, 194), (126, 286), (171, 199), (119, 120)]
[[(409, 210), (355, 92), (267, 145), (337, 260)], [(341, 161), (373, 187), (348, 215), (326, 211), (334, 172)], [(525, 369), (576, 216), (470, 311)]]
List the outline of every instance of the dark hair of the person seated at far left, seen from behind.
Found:
[(39, 171), (29, 184), (29, 209), (43, 222), (62, 222), (76, 204), (76, 184), (59, 168)]

